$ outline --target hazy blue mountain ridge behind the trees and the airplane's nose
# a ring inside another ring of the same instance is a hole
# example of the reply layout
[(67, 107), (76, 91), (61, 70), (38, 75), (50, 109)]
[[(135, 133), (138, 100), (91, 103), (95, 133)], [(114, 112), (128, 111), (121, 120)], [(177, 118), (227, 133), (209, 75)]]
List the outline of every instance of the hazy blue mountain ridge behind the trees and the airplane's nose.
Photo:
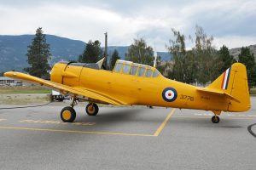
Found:
[[(0, 35), (0, 71), (22, 71), (27, 67), (27, 46), (32, 42), (34, 35), (1, 36)], [(65, 37), (46, 35), (46, 41), (50, 45), (52, 58), (49, 64), (53, 65), (60, 60), (76, 60), (82, 54), (85, 42), (72, 40)], [(117, 49), (121, 59), (125, 59), (128, 46), (110, 46), (108, 54), (111, 55)], [(162, 60), (170, 60), (171, 55), (166, 52), (158, 52)]]

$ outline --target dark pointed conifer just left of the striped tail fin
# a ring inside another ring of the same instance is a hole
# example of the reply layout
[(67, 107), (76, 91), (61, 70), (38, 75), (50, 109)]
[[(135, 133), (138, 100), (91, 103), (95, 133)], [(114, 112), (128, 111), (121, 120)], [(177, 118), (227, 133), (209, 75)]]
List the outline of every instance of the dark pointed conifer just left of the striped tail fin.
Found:
[(221, 60), (222, 64), (219, 67), (218, 73), (221, 74), (230, 68), (230, 65), (236, 62), (232, 55), (230, 55), (229, 48), (223, 45), (218, 51), (218, 58)]

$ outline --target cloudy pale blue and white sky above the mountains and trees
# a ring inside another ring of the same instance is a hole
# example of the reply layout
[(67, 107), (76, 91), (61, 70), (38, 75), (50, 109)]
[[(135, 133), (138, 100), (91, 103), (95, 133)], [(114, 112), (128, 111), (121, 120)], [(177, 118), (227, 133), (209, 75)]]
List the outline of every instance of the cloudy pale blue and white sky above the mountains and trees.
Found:
[(195, 26), (213, 36), (216, 48), (256, 44), (256, 0), (0, 0), (0, 35), (45, 34), (88, 42), (108, 32), (109, 46), (128, 46), (144, 38), (166, 51), (172, 28), (183, 33), (187, 48)]

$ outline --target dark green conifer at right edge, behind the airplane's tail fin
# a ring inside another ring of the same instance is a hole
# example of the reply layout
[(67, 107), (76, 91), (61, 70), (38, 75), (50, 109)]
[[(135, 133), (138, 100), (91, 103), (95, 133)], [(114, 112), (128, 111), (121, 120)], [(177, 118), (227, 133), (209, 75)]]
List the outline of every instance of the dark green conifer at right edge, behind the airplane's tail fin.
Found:
[(254, 55), (251, 53), (250, 48), (242, 47), (241, 53), (238, 55), (238, 60), (246, 65), (249, 88), (253, 88), (256, 86), (256, 64)]

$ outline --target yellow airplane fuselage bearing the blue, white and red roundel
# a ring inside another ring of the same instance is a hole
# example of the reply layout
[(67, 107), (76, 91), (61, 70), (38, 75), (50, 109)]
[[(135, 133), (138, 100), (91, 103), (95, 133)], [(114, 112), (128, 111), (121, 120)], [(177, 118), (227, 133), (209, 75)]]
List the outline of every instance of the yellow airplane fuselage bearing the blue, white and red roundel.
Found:
[[(98, 70), (82, 65), (57, 63), (51, 81), (70, 87), (90, 89), (96, 93), (125, 101), (127, 105), (153, 105), (180, 109), (228, 111), (229, 99), (204, 94), (195, 86), (166, 77), (138, 77), (122, 72)], [(168, 94), (168, 89), (171, 94)], [(167, 90), (165, 90), (167, 89)], [(175, 99), (168, 100), (168, 95)], [(167, 98), (167, 99), (166, 99)]]

